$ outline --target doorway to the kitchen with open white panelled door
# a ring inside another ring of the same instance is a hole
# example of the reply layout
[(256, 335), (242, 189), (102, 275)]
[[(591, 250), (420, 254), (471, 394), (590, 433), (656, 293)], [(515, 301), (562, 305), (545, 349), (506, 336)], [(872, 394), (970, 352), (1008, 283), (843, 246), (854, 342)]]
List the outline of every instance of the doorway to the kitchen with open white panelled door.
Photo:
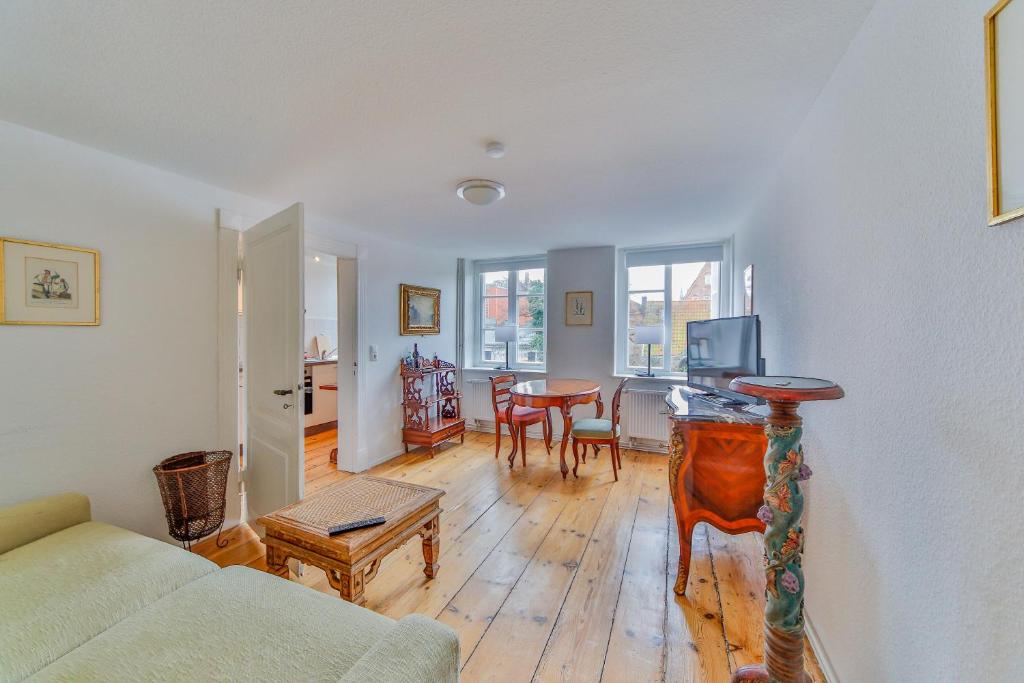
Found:
[[(234, 444), (239, 455), (230, 478), (239, 497), (231, 499), (228, 515), (251, 523), (359, 468), (360, 256), (355, 245), (305, 233), (301, 205), (255, 224), (227, 212), (218, 219), (218, 420), (221, 442)], [(328, 267), (315, 267), (322, 264)], [(314, 336), (321, 337), (315, 346)], [(310, 364), (307, 372), (306, 360), (324, 361), (324, 369)], [(337, 390), (325, 393), (332, 384)], [(258, 399), (268, 400), (262, 405)], [(322, 412), (313, 415), (317, 402)], [(319, 434), (307, 439), (307, 426)], [(308, 476), (307, 440), (309, 469), (321, 465)]]

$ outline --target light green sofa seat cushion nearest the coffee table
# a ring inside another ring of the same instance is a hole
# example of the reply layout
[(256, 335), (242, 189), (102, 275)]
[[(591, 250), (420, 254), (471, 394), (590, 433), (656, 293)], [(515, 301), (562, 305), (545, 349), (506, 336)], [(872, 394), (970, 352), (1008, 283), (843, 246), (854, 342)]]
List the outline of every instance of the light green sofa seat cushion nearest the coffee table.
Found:
[(395, 623), (243, 566), (203, 577), (33, 681), (338, 681)]

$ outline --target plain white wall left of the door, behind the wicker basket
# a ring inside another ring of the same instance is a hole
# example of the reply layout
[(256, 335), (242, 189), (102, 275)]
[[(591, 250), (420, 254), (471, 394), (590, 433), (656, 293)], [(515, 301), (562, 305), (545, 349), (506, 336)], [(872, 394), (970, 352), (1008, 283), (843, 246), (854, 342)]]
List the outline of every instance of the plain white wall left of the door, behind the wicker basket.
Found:
[(0, 326), (0, 505), (79, 490), (167, 538), (153, 467), (217, 447), (217, 208), (272, 211), (0, 122), (0, 233), (101, 264), (99, 327)]

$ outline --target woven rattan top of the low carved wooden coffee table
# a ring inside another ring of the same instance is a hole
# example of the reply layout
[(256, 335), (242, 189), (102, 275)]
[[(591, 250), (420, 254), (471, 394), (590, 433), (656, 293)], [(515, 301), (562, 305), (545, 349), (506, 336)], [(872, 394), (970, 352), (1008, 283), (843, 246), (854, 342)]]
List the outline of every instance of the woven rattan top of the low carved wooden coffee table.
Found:
[[(370, 517), (385, 517), (386, 527), (397, 521), (396, 517), (408, 515), (443, 495), (444, 492), (439, 488), (357, 475), (278, 510), (263, 519), (289, 523), (327, 536), (327, 529), (335, 524)], [(340, 540), (353, 535), (361, 536), (359, 531), (353, 531), (335, 538)]]

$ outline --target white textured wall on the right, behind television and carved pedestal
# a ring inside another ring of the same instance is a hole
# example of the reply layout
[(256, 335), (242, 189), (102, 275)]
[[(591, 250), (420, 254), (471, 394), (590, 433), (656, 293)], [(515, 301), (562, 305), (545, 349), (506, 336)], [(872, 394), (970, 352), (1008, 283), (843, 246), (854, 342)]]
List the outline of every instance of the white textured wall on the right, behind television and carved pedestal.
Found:
[(992, 4), (879, 0), (737, 233), (769, 371), (847, 392), (802, 410), (807, 609), (844, 681), (1024, 677), (1024, 221), (985, 224)]

